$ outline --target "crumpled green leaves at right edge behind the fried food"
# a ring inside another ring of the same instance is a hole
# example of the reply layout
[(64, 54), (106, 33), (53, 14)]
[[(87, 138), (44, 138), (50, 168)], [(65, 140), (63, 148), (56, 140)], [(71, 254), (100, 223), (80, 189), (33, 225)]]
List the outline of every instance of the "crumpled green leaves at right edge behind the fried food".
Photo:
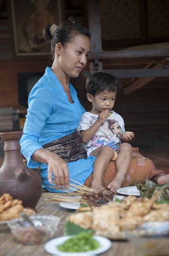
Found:
[(141, 197), (148, 198), (151, 198), (159, 190), (162, 190), (162, 193), (157, 197), (156, 202), (169, 201), (169, 182), (166, 182), (164, 185), (159, 185), (151, 180), (146, 180), (145, 184), (136, 184), (136, 187), (140, 191)]

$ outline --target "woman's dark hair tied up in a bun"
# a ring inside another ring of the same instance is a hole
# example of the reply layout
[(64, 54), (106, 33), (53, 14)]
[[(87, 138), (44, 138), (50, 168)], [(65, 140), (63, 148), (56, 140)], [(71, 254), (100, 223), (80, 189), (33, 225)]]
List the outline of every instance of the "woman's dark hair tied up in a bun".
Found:
[(57, 43), (61, 43), (63, 47), (68, 43), (74, 40), (77, 34), (82, 34), (87, 36), (90, 39), (90, 31), (80, 20), (73, 20), (71, 16), (68, 21), (61, 23), (56, 31), (51, 34), (50, 27), (52, 25), (49, 24), (43, 31), (44, 39), (46, 42), (51, 41), (51, 54), (53, 59), (55, 58), (55, 47)]

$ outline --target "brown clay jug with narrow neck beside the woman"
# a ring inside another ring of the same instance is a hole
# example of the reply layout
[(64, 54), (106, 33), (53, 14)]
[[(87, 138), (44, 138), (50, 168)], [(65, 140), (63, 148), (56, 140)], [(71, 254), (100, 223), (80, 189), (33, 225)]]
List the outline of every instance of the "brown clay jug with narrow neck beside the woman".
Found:
[(24, 207), (35, 208), (42, 195), (41, 177), (28, 168), (20, 154), (22, 132), (0, 133), (4, 141), (4, 162), (0, 168), (0, 196), (8, 193)]

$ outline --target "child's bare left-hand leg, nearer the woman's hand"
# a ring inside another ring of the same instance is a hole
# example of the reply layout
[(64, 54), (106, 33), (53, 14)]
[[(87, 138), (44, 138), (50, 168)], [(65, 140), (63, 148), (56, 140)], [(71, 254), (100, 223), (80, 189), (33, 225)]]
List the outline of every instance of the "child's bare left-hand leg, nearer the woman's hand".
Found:
[(102, 178), (110, 160), (112, 159), (113, 152), (113, 148), (104, 146), (95, 149), (90, 154), (96, 157), (96, 160), (94, 161), (93, 181), (91, 186), (92, 189), (105, 190), (105, 187), (102, 185)]

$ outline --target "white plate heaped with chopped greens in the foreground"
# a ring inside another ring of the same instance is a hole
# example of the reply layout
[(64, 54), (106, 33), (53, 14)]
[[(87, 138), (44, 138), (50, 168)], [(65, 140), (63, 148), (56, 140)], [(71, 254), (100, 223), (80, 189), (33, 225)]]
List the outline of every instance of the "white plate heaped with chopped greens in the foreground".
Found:
[(97, 255), (110, 249), (111, 241), (102, 236), (81, 232), (76, 236), (61, 236), (48, 241), (44, 249), (53, 255)]

